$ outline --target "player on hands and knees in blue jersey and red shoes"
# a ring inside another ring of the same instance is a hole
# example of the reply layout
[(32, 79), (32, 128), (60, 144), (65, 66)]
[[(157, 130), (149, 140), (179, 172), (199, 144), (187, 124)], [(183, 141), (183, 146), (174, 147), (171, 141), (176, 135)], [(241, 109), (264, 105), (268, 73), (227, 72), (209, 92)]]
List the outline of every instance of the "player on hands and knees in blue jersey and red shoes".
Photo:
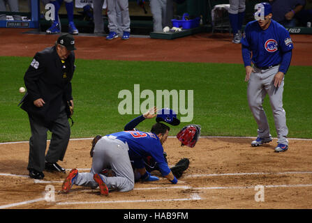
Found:
[[(72, 169), (64, 180), (62, 191), (68, 192), (75, 185), (87, 187), (99, 187), (103, 195), (107, 195), (109, 190), (127, 192), (133, 190), (134, 174), (131, 160), (140, 172), (143, 180), (150, 180), (151, 175), (144, 168), (143, 157), (151, 155), (157, 162), (161, 174), (176, 184), (175, 178), (163, 157), (162, 144), (168, 137), (170, 128), (163, 123), (156, 123), (152, 126), (151, 132), (124, 131), (116, 132), (105, 137), (94, 139), (91, 149), (92, 167), (89, 173), (78, 173), (77, 169)], [(105, 176), (103, 169), (111, 167), (116, 176)]]

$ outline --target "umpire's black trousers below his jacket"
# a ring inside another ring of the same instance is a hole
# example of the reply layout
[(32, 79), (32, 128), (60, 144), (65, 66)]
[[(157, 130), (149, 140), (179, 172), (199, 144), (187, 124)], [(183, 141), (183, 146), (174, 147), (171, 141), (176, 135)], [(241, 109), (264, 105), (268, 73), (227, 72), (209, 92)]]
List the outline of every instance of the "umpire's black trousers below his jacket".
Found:
[[(59, 117), (50, 125), (49, 128), (43, 125), (42, 121), (29, 115), (31, 127), (31, 137), (29, 139), (29, 162), (27, 169), (36, 169), (43, 171), (45, 169), (45, 160), (47, 162), (63, 161), (70, 138), (70, 125), (65, 112), (64, 103), (61, 106)], [(47, 130), (52, 132), (50, 146), (47, 148)]]

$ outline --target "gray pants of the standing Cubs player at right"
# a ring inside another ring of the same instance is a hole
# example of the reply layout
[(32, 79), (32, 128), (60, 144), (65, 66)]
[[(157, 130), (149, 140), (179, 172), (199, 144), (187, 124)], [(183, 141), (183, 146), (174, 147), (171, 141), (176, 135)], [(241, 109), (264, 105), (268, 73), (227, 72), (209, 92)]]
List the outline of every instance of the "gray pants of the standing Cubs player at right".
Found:
[(267, 70), (260, 70), (254, 66), (253, 69), (255, 72), (251, 73), (248, 81), (247, 98), (248, 105), (258, 124), (258, 137), (268, 138), (270, 136), (269, 123), (267, 122), (267, 116), (265, 115), (262, 103), (265, 96), (269, 95), (278, 137), (277, 143), (288, 145), (286, 113), (283, 109), (284, 80), (278, 88), (274, 86), (274, 76), (278, 72), (278, 68), (279, 66), (274, 66)]

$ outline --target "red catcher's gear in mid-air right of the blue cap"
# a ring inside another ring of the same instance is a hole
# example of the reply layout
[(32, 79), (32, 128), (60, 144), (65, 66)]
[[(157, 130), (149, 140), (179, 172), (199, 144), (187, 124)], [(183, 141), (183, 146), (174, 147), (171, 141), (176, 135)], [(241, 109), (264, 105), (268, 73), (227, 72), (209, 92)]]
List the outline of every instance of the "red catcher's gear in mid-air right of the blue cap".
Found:
[(200, 125), (187, 125), (177, 134), (177, 139), (181, 141), (181, 146), (189, 146), (193, 148), (200, 137)]

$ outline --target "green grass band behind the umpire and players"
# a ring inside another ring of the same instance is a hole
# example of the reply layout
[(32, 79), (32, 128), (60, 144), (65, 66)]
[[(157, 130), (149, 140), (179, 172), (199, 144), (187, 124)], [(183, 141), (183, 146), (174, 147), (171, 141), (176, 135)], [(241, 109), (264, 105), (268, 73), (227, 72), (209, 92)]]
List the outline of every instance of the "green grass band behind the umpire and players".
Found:
[[(0, 57), (0, 141), (24, 141), (30, 137), (26, 112), (17, 107), (22, 98), (24, 72), (29, 57)], [(175, 63), (142, 61), (76, 60), (73, 77), (75, 124), (71, 138), (94, 137), (124, 129), (137, 114), (121, 115), (119, 91), (133, 93), (134, 84), (140, 92), (150, 89), (193, 90), (194, 116), (190, 123), (202, 125), (202, 135), (256, 136), (257, 125), (246, 99), (246, 82), (242, 64)], [(289, 128), (288, 137), (312, 137), (312, 67), (290, 66), (285, 77), (283, 104)], [(156, 100), (156, 98), (155, 98)], [(143, 102), (144, 99), (141, 99)], [(269, 98), (264, 103), (272, 135), (276, 137)], [(179, 116), (179, 114), (178, 114)], [(150, 130), (154, 120), (138, 126)], [(175, 135), (188, 123), (171, 126)]]

